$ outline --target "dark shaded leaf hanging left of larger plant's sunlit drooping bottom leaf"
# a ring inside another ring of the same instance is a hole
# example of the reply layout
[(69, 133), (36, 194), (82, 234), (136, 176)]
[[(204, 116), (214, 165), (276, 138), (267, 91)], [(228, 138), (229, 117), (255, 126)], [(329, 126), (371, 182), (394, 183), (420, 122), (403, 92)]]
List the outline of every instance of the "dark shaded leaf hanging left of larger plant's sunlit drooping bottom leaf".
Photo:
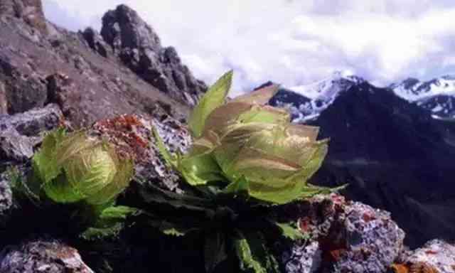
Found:
[(225, 243), (225, 234), (223, 232), (215, 231), (205, 235), (205, 272), (213, 272), (218, 264), (228, 259)]

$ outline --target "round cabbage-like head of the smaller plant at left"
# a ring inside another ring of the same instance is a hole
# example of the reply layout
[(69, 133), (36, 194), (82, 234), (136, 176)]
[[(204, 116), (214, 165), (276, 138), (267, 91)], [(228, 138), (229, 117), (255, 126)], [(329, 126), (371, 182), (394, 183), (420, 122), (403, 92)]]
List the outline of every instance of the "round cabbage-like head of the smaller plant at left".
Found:
[(132, 159), (122, 158), (107, 141), (87, 132), (50, 132), (33, 156), (33, 171), (45, 196), (57, 203), (112, 202), (134, 173)]

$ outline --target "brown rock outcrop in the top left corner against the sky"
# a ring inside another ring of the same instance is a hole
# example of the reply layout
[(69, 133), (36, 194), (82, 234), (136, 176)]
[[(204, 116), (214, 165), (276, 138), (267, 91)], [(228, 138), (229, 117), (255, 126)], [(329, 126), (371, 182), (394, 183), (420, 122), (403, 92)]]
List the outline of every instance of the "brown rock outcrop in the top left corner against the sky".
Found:
[(47, 23), (45, 21), (41, 0), (1, 1), (0, 15), (21, 18), (38, 31), (47, 33)]

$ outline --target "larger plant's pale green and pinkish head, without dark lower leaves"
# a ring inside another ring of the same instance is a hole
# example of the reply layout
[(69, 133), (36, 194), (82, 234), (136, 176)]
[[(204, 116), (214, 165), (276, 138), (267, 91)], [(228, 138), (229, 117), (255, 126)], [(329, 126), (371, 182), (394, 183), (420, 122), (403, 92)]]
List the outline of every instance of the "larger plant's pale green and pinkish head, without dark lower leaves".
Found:
[[(284, 204), (320, 193), (307, 183), (327, 153), (318, 127), (291, 124), (284, 109), (266, 105), (271, 85), (225, 103), (232, 72), (223, 75), (200, 100), (188, 122), (194, 137), (186, 154), (161, 154), (192, 186), (217, 183), (223, 193), (247, 193)], [(156, 136), (158, 136), (156, 134)]]

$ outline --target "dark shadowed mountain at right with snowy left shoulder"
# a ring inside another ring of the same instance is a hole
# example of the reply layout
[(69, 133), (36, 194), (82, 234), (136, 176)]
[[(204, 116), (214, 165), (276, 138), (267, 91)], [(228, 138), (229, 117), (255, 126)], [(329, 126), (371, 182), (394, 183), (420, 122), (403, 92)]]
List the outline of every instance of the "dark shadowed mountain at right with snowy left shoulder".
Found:
[(389, 88), (340, 74), (280, 90), (270, 103), (291, 105), (294, 122), (319, 126), (320, 137), (331, 139), (314, 183), (348, 183), (346, 196), (390, 211), (412, 247), (455, 237), (454, 123)]

